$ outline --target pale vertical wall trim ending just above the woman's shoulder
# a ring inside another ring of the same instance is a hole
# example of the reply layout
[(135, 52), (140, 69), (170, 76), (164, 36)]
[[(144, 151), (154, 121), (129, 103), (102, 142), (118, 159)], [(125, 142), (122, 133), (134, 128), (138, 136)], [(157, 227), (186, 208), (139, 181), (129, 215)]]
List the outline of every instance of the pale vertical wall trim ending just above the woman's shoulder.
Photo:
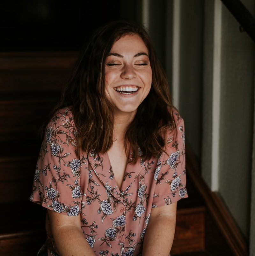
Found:
[(180, 27), (181, 1), (173, 0), (172, 95), (173, 104), (179, 109), (180, 94)]

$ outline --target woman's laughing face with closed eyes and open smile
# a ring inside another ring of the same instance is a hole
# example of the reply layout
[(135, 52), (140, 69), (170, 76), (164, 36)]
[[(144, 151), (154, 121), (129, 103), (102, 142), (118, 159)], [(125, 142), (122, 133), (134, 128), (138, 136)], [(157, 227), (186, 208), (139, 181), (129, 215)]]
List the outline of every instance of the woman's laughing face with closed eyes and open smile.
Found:
[(105, 62), (106, 96), (114, 114), (135, 114), (151, 88), (148, 49), (139, 35), (124, 35), (113, 44)]

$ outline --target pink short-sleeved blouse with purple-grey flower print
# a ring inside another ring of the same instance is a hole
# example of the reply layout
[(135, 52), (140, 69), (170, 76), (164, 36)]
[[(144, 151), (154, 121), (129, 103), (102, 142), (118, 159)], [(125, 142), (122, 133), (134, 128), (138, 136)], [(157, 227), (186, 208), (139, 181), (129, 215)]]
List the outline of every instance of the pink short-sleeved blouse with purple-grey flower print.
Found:
[[(187, 197), (184, 123), (178, 112), (174, 116), (178, 134), (174, 140), (169, 129), (167, 153), (128, 163), (119, 189), (107, 153), (76, 156), (72, 113), (60, 110), (46, 128), (30, 200), (70, 218), (80, 214), (96, 255), (139, 255), (151, 208)], [(58, 255), (46, 222), (48, 255)]]

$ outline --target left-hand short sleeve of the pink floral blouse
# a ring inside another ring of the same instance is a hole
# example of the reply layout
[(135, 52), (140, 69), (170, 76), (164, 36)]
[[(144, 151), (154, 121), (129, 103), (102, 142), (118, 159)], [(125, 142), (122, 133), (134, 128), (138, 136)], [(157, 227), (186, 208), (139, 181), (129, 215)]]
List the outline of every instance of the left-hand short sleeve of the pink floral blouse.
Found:
[(31, 201), (69, 216), (77, 216), (82, 209), (82, 160), (76, 156), (76, 134), (68, 109), (48, 123), (30, 196)]

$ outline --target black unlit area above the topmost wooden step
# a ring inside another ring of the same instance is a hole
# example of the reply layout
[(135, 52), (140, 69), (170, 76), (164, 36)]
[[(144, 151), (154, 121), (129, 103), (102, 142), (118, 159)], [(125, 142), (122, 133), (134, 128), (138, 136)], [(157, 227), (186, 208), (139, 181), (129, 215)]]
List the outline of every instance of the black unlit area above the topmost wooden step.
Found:
[(91, 31), (116, 19), (140, 21), (140, 1), (4, 1), (3, 51), (79, 50)]

